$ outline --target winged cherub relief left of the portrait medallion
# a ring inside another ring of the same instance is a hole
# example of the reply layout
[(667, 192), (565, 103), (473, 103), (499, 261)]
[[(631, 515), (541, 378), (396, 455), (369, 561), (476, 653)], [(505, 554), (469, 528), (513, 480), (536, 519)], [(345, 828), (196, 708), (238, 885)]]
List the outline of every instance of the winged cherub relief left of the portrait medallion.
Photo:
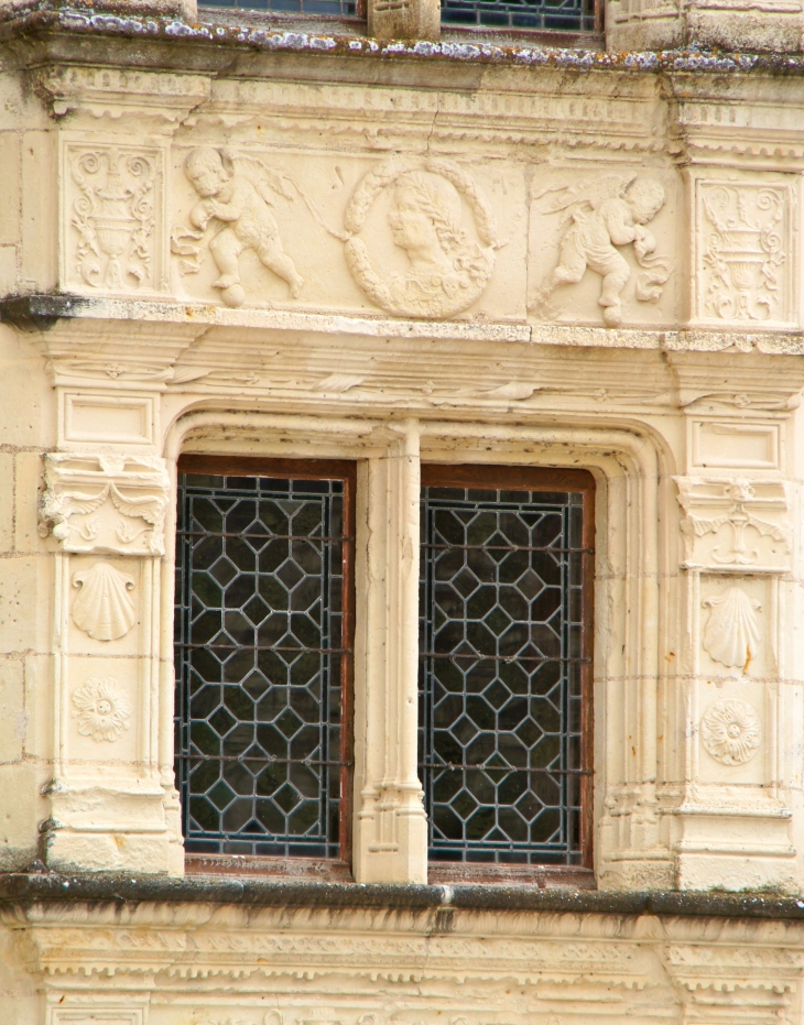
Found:
[(209, 251), (220, 276), (213, 282), (228, 306), (240, 306), (246, 292), (240, 284), (240, 254), (253, 249), (262, 263), (287, 282), (291, 296), (296, 297), (304, 280), (293, 260), (283, 251), (279, 225), (269, 209), (276, 194), (293, 199), (289, 192), (290, 179), (263, 163), (250, 157), (235, 156), (227, 150), (199, 146), (192, 150), (184, 162), (184, 173), (200, 199), (189, 211), (189, 220), (197, 231), (178, 229), (173, 235), (173, 252), (194, 260), (185, 260), (183, 270), (195, 273), (200, 266), (202, 242), (213, 232)]

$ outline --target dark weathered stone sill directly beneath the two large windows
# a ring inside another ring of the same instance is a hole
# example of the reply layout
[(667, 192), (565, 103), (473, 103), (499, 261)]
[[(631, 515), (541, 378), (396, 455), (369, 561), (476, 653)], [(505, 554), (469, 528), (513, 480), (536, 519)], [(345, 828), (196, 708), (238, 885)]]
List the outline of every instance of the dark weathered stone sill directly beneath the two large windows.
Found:
[(423, 886), (284, 882), (254, 879), (170, 879), (112, 873), (0, 873), (0, 907), (32, 904), (235, 904), (249, 907), (349, 907), (426, 910), (548, 912), (659, 917), (804, 920), (804, 899), (758, 893), (624, 893), (522, 886)]

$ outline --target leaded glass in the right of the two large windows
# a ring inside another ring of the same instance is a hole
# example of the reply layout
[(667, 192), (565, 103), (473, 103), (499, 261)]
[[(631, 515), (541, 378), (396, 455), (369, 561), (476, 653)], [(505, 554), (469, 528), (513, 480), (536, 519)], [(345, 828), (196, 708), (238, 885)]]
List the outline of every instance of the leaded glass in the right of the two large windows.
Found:
[(430, 858), (579, 865), (583, 495), (422, 489)]

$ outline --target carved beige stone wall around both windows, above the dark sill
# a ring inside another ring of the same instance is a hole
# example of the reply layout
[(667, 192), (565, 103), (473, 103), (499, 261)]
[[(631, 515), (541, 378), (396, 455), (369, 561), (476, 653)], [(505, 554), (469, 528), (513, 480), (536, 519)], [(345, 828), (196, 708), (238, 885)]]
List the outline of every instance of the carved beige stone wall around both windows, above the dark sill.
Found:
[[(771, 7), (612, 3), (607, 32), (794, 48)], [(401, 10), (372, 4), (378, 34), (428, 34)], [(0, 650), (51, 784), (29, 826), (62, 868), (181, 874), (175, 460), (346, 458), (355, 872), (424, 882), (421, 465), (584, 467), (597, 884), (801, 892), (801, 77), (305, 40), (4, 73)]]

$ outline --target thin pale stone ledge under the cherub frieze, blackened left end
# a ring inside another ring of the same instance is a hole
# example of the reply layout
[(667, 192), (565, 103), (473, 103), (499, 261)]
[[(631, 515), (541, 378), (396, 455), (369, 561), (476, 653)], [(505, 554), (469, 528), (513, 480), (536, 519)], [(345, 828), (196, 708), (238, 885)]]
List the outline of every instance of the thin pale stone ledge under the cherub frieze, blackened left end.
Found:
[(384, 338), (511, 341), (577, 348), (655, 349), (671, 352), (758, 351), (768, 356), (804, 355), (802, 331), (706, 331), (666, 328), (576, 327), (551, 324), (471, 320), (405, 320), (350, 316), (346, 313), (301, 313), (292, 309), (241, 309), (203, 303), (160, 303), (88, 298), (80, 295), (21, 295), (0, 299), (0, 321), (18, 330), (47, 331), (59, 320), (137, 320), (254, 330), (309, 331)]

